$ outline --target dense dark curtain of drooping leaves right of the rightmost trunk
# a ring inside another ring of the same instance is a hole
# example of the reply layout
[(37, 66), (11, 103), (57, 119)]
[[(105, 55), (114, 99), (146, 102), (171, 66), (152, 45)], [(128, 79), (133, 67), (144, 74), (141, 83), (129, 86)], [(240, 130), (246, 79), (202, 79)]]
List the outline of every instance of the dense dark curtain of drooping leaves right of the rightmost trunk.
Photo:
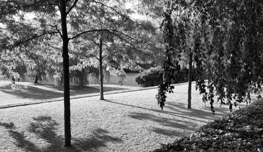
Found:
[[(262, 69), (262, 2), (249, 1), (196, 1), (201, 13), (203, 69), (208, 82), (199, 79), (200, 93), (210, 100), (214, 113), (214, 96), (217, 102), (250, 102), (250, 93), (260, 98), (263, 83)], [(258, 7), (257, 7), (258, 6)], [(204, 68), (205, 67), (205, 68)], [(208, 88), (208, 92), (205, 91)]]

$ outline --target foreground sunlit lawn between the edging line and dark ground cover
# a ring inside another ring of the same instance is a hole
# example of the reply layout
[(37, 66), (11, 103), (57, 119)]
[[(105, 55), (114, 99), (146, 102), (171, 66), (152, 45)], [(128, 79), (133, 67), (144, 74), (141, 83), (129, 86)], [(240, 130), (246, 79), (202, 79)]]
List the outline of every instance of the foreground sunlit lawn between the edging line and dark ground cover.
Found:
[(71, 147), (63, 146), (63, 101), (0, 109), (0, 151), (151, 151), (229, 113), (228, 106), (216, 103), (216, 115), (211, 115), (201, 95), (192, 91), (192, 109), (186, 108), (187, 85), (181, 85), (167, 95), (163, 111), (155, 99), (157, 89), (109, 94), (104, 101), (73, 99)]

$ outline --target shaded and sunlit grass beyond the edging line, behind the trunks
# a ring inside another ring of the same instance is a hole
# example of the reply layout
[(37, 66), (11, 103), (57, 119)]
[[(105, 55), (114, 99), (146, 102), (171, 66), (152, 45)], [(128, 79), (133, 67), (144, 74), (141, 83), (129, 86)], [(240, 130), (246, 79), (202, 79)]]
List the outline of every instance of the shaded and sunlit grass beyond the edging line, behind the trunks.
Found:
[[(116, 77), (112, 77), (109, 83), (105, 83), (104, 92), (134, 89), (141, 87), (134, 82), (134, 76), (136, 73), (128, 73), (127, 81), (124, 81), (123, 86), (119, 86), (116, 81)], [(63, 91), (58, 90), (51, 82), (41, 82), (41, 84), (34, 84), (33, 82), (16, 82), (16, 84), (24, 85), (27, 88), (12, 89), (10, 81), (0, 81), (0, 106), (28, 103), (45, 99), (52, 99), (63, 97)], [(79, 88), (78, 86), (70, 86), (70, 95), (83, 95), (99, 93), (100, 86), (91, 84)]]

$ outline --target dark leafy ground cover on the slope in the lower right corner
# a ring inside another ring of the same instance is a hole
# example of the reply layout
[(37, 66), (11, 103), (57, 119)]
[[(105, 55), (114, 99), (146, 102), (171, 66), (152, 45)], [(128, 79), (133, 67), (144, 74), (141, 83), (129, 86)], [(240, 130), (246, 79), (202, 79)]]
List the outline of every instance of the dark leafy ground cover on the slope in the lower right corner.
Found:
[(215, 120), (198, 132), (164, 144), (154, 152), (176, 151), (262, 151), (263, 100)]

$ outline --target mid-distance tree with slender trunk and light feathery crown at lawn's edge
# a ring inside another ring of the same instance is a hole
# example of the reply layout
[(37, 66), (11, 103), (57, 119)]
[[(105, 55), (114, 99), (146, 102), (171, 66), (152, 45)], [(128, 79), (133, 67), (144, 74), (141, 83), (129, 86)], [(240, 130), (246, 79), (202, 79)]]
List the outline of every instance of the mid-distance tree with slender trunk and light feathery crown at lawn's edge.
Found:
[[(137, 66), (136, 62), (142, 62), (145, 59), (147, 61), (151, 60), (148, 56), (152, 56), (152, 50), (156, 50), (155, 45), (149, 43), (149, 35), (155, 32), (154, 27), (149, 21), (139, 21), (133, 20), (127, 15), (120, 15), (119, 12), (112, 10), (107, 7), (107, 3), (99, 3), (98, 5), (90, 4), (88, 7), (91, 10), (89, 18), (90, 26), (92, 29), (94, 27), (99, 27), (100, 29), (118, 29), (116, 30), (98, 30), (92, 34), (83, 35), (77, 41), (85, 41), (83, 46), (76, 46), (74, 50), (84, 50), (86, 51), (85, 57), (87, 60), (97, 59), (98, 66), (96, 64), (87, 64), (86, 62), (81, 62), (81, 68), (86, 66), (94, 66), (99, 68), (100, 73), (100, 99), (103, 100), (103, 69), (105, 67), (115, 72), (111, 71), (111, 74), (117, 74), (121, 76), (120, 83), (122, 83), (123, 68), (135, 68)], [(111, 7), (117, 7), (118, 3), (112, 4)], [(131, 10), (126, 10), (133, 12)], [(106, 12), (106, 13), (105, 13)], [(116, 16), (119, 16), (116, 18)], [(140, 34), (138, 34), (140, 31)], [(150, 33), (150, 34), (149, 34)], [(126, 43), (126, 44), (125, 44)], [(77, 45), (79, 42), (77, 42)], [(78, 49), (76, 49), (78, 48)], [(145, 51), (145, 50), (146, 51)], [(151, 50), (151, 51), (149, 51)], [(147, 52), (149, 51), (149, 52)], [(105, 52), (105, 53), (104, 53)], [(133, 53), (131, 53), (133, 52)], [(94, 63), (93, 61), (91, 61)], [(114, 68), (112, 68), (111, 62), (114, 62)], [(145, 61), (144, 61), (145, 62)], [(131, 64), (133, 63), (133, 64)], [(128, 66), (129, 65), (129, 66)], [(117, 70), (116, 69), (120, 69)]]

